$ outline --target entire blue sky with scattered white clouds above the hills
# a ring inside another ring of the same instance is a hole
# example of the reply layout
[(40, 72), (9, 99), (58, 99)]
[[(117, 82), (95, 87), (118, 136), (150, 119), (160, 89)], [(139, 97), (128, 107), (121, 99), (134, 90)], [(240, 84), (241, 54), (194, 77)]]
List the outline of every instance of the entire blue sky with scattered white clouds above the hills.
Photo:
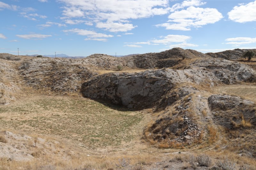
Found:
[(253, 0), (0, 0), (0, 53), (256, 48)]

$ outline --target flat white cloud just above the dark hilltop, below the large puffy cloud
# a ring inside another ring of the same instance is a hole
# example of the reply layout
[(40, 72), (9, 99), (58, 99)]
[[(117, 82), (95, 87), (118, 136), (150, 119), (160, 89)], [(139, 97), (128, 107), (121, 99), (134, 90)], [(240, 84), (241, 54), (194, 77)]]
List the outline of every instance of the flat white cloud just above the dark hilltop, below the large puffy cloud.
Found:
[(191, 39), (190, 36), (186, 35), (167, 35), (165, 37), (162, 37), (163, 39), (157, 40), (151, 40), (151, 42), (156, 43), (156, 44), (167, 44), (171, 42), (186, 42)]

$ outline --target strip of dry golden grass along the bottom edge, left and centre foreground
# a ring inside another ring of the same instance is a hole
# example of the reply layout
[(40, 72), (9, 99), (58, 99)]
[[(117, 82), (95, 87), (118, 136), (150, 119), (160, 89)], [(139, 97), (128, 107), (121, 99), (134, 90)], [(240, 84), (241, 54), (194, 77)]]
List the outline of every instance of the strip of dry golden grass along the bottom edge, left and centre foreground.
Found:
[[(120, 162), (122, 161), (122, 162)], [(139, 166), (150, 165), (159, 161), (153, 155), (140, 154), (133, 156), (102, 156), (102, 157), (91, 157), (87, 155), (72, 155), (69, 159), (63, 159), (61, 157), (49, 157), (46, 154), (39, 154), (36, 159), (31, 161), (14, 161), (8, 158), (0, 159), (0, 169), (56, 169), (56, 170), (70, 170), (70, 169), (111, 169), (119, 166), (121, 163), (126, 163), (132, 166), (132, 168), (138, 169)], [(122, 169), (125, 167), (122, 167)]]

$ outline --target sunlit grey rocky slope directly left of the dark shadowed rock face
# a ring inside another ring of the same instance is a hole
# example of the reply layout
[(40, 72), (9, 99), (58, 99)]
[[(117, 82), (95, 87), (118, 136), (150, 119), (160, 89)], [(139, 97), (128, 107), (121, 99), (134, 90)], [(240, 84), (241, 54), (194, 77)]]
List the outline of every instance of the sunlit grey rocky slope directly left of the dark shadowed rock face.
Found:
[(52, 58), (26, 60), (19, 71), (27, 85), (36, 89), (46, 87), (55, 92), (79, 91), (82, 82), (97, 75), (79, 62)]

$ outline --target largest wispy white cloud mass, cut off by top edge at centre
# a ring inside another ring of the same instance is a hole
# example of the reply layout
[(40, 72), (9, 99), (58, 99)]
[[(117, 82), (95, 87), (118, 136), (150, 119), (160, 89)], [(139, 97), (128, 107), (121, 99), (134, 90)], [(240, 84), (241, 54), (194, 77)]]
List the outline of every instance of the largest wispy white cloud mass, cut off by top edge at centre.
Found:
[(169, 12), (169, 0), (59, 0), (64, 4), (61, 19), (88, 18), (96, 27), (125, 32), (136, 26), (130, 19), (148, 18)]

